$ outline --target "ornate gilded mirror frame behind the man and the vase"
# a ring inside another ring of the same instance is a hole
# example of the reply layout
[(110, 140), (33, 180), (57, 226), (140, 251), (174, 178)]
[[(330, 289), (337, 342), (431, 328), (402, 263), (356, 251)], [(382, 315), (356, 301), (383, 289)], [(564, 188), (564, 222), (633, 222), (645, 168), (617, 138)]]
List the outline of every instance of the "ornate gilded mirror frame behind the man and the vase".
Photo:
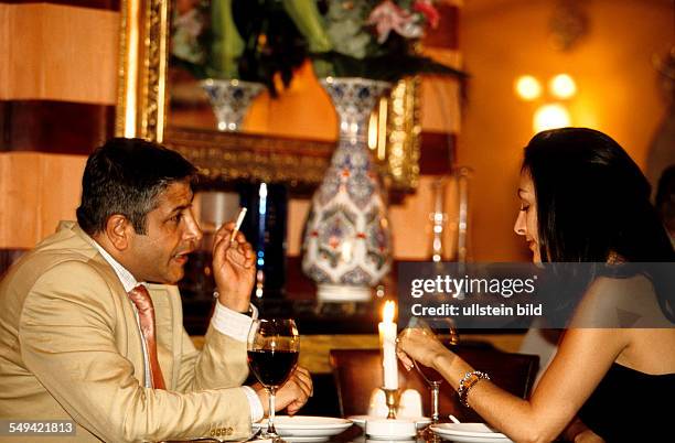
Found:
[[(190, 119), (184, 116), (176, 122), (172, 121), (172, 116), (175, 118), (169, 111), (172, 13), (168, 3), (162, 0), (121, 1), (116, 134), (162, 142), (181, 152), (214, 183), (267, 181), (298, 188), (312, 188), (320, 183), (334, 148), (330, 137), (321, 140), (298, 137), (292, 131), (266, 133), (259, 126), (255, 133), (222, 132), (215, 126), (213, 129), (203, 125), (188, 126)], [(308, 89), (314, 90), (312, 87)], [(390, 190), (395, 192), (414, 190), (419, 177), (418, 94), (419, 79), (399, 82), (392, 97), (381, 102), (372, 120), (372, 126), (374, 121), (378, 128), (386, 128), (386, 136), (382, 132), (375, 137), (376, 142), (371, 148)], [(328, 101), (326, 96), (310, 99)], [(296, 102), (302, 106), (302, 101)]]

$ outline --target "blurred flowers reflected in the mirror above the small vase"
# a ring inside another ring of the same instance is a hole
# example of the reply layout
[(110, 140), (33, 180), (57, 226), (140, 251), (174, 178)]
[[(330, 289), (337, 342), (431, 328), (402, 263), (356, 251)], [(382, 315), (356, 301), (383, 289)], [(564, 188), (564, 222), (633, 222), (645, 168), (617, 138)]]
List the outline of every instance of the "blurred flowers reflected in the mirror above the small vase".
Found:
[(172, 64), (197, 79), (288, 86), (307, 57), (306, 43), (277, 0), (179, 0), (173, 10)]

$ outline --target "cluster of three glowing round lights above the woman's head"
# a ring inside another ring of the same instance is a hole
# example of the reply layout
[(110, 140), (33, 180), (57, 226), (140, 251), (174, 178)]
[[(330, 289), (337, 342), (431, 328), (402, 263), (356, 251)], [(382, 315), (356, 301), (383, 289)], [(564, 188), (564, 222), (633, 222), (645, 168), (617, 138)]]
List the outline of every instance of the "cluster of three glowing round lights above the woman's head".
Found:
[[(577, 94), (577, 84), (569, 74), (558, 74), (548, 80), (548, 94), (557, 100), (569, 100)], [(542, 97), (542, 83), (532, 75), (522, 75), (514, 83), (515, 94), (524, 101), (535, 101)], [(564, 128), (571, 125), (567, 107), (561, 102), (540, 100), (533, 116), (533, 129), (536, 132)]]

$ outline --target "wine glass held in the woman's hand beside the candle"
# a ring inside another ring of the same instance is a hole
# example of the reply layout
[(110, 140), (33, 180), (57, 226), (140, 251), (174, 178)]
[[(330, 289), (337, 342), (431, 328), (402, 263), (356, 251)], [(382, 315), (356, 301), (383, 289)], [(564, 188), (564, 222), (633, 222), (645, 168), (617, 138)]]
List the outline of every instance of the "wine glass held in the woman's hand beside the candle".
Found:
[[(459, 343), (459, 334), (454, 328), (454, 322), (450, 318), (433, 318), (427, 323), (422, 318), (411, 317), (408, 327), (417, 327), (428, 332), (429, 335), (435, 335), (446, 347), (454, 346)], [(438, 398), (440, 386), (443, 377), (433, 368), (425, 366), (417, 360), (413, 360), (415, 369), (427, 382), (431, 390), (431, 421), (432, 424), (438, 423), (440, 414), (438, 410)]]

